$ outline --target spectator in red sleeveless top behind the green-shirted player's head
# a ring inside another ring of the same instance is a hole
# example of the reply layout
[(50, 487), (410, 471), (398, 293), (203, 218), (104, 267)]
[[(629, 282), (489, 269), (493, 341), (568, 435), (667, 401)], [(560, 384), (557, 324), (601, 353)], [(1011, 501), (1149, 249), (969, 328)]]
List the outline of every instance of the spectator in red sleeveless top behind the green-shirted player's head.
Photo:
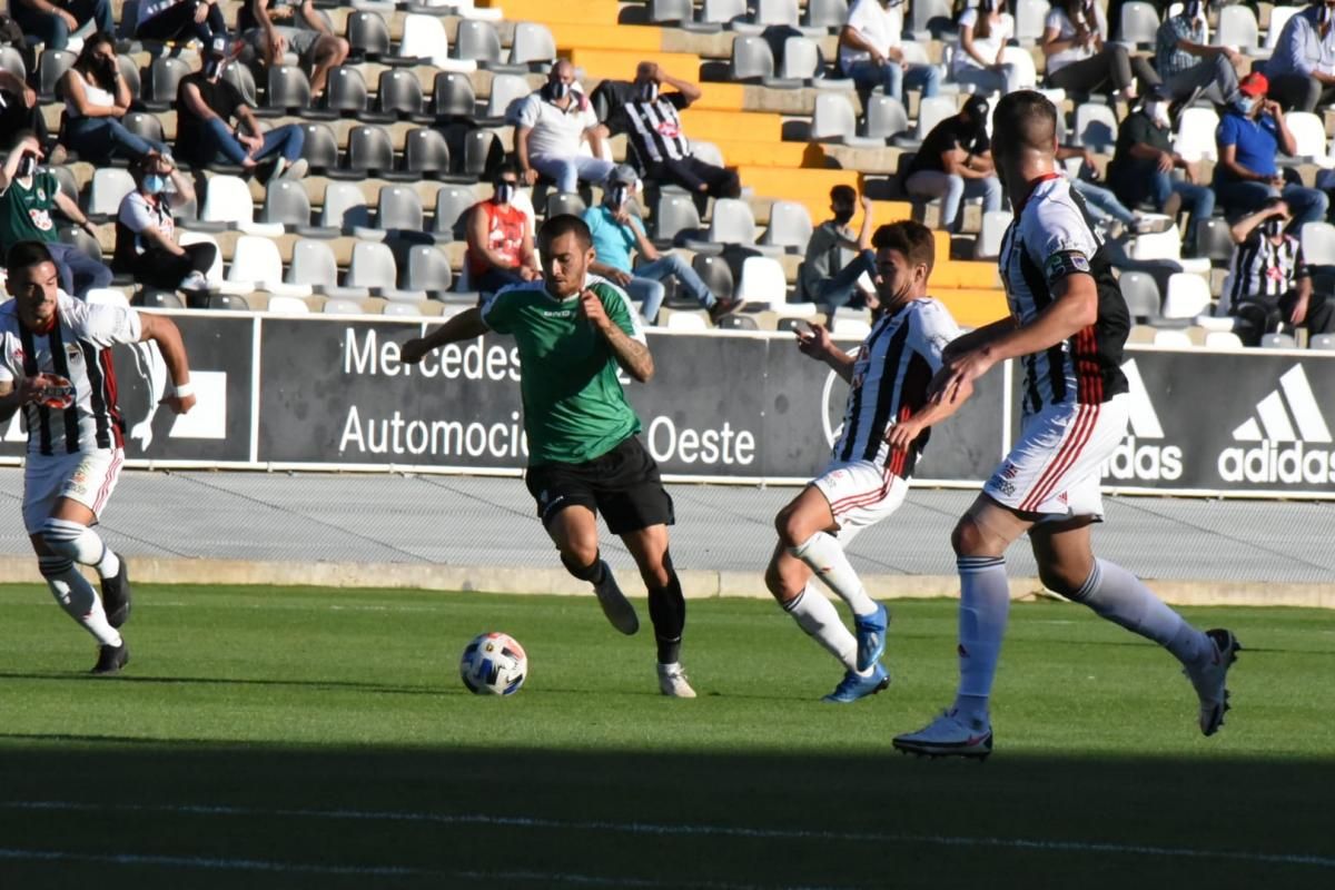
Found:
[(542, 278), (533, 250), (533, 226), (527, 213), (510, 203), (518, 188), (519, 175), (506, 165), (497, 173), (491, 199), (469, 208), (469, 250), (463, 263), (469, 287), (481, 294)]

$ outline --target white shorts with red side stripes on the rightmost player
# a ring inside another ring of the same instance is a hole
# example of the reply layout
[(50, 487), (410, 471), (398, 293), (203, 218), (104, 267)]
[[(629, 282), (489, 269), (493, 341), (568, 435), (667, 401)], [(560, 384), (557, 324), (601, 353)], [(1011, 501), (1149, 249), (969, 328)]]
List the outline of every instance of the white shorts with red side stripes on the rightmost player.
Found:
[(1101, 404), (1057, 404), (1021, 420), (1020, 440), (983, 491), (1045, 520), (1103, 519), (1103, 464), (1127, 434), (1127, 395)]

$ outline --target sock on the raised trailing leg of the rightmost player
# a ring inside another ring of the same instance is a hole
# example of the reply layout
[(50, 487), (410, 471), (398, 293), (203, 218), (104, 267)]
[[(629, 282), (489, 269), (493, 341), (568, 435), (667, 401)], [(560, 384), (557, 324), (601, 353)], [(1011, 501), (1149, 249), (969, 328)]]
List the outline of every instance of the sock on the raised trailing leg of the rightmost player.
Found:
[(1139, 578), (1116, 563), (1096, 559), (1093, 571), (1071, 599), (1084, 603), (1100, 618), (1152, 639), (1183, 664), (1195, 664), (1214, 651), (1203, 631), (1153, 595)]

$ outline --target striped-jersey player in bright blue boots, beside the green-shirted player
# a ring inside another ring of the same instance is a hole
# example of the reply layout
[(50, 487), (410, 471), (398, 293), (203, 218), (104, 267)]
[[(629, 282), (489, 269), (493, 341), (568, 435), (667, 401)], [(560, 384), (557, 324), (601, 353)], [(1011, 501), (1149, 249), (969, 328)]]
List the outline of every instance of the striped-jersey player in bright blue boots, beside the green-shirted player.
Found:
[[(926, 295), (936, 259), (932, 232), (913, 221), (892, 223), (878, 228), (872, 243), (880, 310), (857, 355), (834, 346), (821, 324), (797, 336), (797, 347), (828, 364), (850, 390), (829, 466), (774, 518), (778, 544), (765, 571), (780, 606), (844, 664), (844, 679), (822, 699), (840, 705), (890, 683), (881, 664), (889, 615), (868, 596), (844, 548), (904, 503), (932, 414), (945, 414), (928, 406), (928, 384), (941, 368), (947, 343), (960, 334), (947, 308)], [(918, 411), (908, 447), (892, 451), (886, 431)], [(856, 638), (825, 594), (812, 587), (813, 575), (848, 603)]]

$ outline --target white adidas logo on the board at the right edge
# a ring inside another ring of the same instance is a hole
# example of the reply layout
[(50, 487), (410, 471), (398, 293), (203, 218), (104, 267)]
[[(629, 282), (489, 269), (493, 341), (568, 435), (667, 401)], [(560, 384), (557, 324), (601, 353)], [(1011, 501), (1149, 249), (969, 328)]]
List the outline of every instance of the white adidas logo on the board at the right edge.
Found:
[(1335, 483), (1335, 450), (1331, 444), (1312, 386), (1303, 366), (1295, 364), (1279, 378), (1279, 388), (1256, 403), (1256, 415), (1234, 430), (1234, 442), (1254, 447), (1224, 448), (1219, 476), (1226, 482)]

